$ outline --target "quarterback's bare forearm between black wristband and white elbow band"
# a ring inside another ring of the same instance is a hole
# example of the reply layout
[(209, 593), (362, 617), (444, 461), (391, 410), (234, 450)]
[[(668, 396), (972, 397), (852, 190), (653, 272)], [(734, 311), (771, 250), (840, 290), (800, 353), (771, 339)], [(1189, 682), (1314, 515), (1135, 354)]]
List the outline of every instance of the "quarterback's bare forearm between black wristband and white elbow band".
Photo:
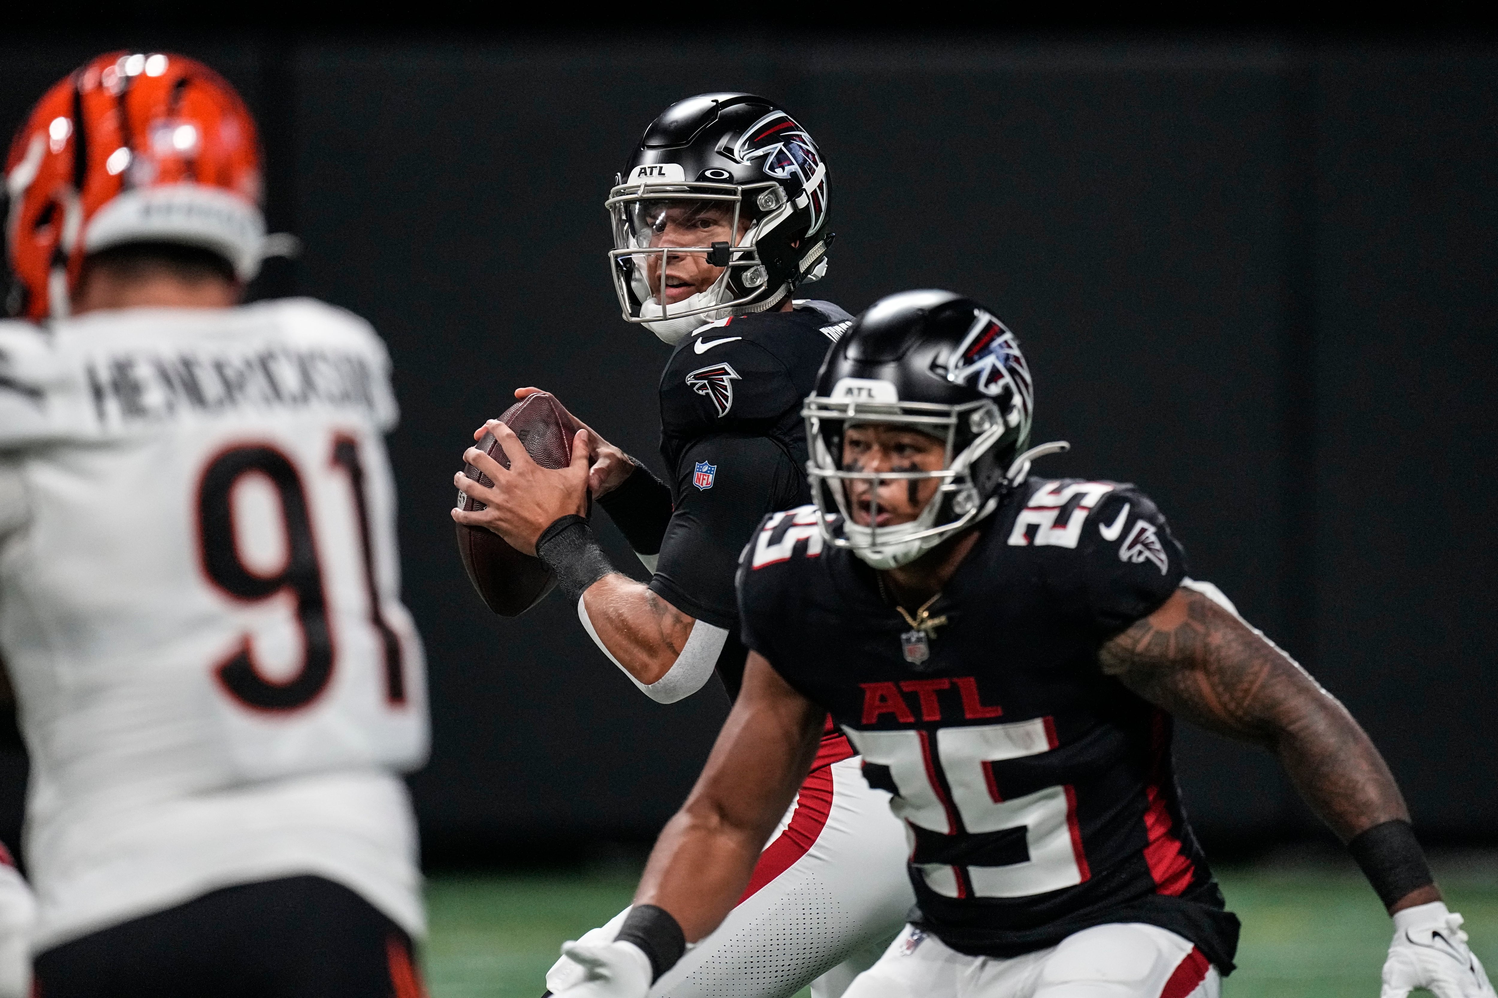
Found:
[(650, 587), (623, 575), (604, 576), (589, 587), (583, 606), (598, 642), (644, 685), (671, 670), (697, 622)]

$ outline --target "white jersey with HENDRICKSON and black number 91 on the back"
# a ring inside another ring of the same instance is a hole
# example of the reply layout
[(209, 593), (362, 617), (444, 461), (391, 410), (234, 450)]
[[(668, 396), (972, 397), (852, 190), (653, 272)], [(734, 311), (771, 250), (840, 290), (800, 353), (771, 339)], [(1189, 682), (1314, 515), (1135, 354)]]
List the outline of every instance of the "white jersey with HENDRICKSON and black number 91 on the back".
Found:
[(310, 299), (0, 322), (34, 949), (316, 874), (421, 932), (389, 359)]

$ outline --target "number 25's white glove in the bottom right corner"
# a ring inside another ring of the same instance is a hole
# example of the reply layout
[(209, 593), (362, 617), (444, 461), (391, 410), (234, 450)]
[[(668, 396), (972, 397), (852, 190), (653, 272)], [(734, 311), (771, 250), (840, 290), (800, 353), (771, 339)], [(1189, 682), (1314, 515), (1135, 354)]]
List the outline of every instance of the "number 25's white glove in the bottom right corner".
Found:
[(1462, 916), (1440, 901), (1395, 913), (1380, 998), (1428, 988), (1437, 998), (1495, 998), (1482, 962), (1467, 947)]

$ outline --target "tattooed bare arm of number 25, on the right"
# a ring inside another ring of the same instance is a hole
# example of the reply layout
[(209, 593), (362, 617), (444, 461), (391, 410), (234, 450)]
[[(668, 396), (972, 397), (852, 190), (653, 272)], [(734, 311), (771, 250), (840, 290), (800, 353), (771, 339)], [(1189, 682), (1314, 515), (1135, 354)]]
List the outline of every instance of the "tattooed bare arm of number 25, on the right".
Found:
[[(1290, 781), (1342, 842), (1408, 821), (1393, 774), (1353, 715), (1294, 660), (1191, 590), (1107, 642), (1104, 672), (1150, 703), (1279, 757)], [(1431, 884), (1390, 911), (1438, 901)]]

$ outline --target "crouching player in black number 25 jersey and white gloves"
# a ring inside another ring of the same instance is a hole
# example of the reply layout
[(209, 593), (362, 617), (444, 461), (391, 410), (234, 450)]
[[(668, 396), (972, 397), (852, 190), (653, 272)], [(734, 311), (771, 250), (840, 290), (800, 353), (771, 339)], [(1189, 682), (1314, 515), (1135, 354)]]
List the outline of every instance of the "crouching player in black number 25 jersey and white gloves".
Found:
[[(1347, 711), (1185, 578), (1134, 486), (1029, 479), (1031, 374), (989, 311), (876, 302), (807, 399), (816, 506), (739, 578), (743, 691), (613, 943), (565, 998), (640, 998), (730, 910), (827, 711), (911, 832), (918, 908), (846, 998), (1215, 998), (1224, 910), (1171, 717), (1273, 751), (1395, 919), (1384, 998), (1492, 997)], [(562, 998), (562, 997), (559, 997)]]

